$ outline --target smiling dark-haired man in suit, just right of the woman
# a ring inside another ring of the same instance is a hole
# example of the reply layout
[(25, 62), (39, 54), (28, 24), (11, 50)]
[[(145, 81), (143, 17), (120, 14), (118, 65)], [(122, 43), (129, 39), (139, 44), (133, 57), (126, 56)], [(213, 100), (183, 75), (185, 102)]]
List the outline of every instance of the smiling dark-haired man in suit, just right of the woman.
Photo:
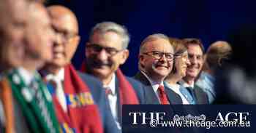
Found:
[(206, 92), (203, 92), (203, 89), (195, 84), (203, 67), (203, 44), (199, 39), (184, 39), (184, 45), (189, 53), (190, 65), (187, 68), (186, 76), (179, 81), (179, 84), (189, 90), (196, 104), (207, 104), (208, 97)]

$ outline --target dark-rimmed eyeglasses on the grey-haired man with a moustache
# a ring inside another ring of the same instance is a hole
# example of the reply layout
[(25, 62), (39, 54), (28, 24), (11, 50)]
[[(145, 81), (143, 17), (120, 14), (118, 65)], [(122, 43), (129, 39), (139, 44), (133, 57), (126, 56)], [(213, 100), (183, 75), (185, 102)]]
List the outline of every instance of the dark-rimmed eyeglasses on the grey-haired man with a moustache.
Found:
[(118, 50), (113, 47), (102, 47), (99, 44), (88, 44), (86, 45), (86, 49), (91, 49), (92, 52), (98, 54), (102, 51), (102, 49), (105, 49), (105, 52), (108, 53), (110, 56), (116, 55), (118, 52), (121, 52), (123, 50)]

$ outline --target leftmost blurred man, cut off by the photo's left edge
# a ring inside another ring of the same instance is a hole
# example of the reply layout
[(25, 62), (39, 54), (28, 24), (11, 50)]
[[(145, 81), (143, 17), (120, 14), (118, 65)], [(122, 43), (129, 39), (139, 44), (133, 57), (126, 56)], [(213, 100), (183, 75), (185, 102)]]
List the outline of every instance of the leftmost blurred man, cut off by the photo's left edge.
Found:
[[(23, 0), (17, 2), (14, 2), (14, 0), (0, 1), (0, 17), (2, 18), (0, 21), (1, 84), (4, 82), (4, 84), (8, 84), (5, 73), (7, 70), (19, 66), (20, 59), (23, 57), (24, 33), (28, 18), (26, 7), (27, 4)], [(9, 14), (7, 15), (6, 12), (9, 12)], [(12, 112), (6, 111), (7, 107), (11, 107), (7, 97), (12, 97), (12, 92), (10, 87), (8, 89), (2, 88), (3, 86), (0, 86), (0, 132), (4, 132), (4, 127), (5, 132), (13, 132), (13, 120), (7, 118), (7, 116), (12, 115)]]

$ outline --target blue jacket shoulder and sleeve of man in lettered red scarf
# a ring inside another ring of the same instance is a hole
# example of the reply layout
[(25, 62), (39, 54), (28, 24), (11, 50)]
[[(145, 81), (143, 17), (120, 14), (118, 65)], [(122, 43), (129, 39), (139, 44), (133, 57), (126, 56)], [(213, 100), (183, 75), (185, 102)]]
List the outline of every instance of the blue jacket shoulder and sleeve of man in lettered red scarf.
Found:
[[(99, 113), (102, 116), (102, 123), (104, 126), (105, 133), (121, 133), (116, 126), (116, 121), (114, 120), (112, 113), (110, 111), (110, 106), (105, 95), (105, 89), (102, 88), (102, 83), (93, 76), (89, 76), (86, 73), (78, 72), (80, 78), (89, 86), (92, 97), (99, 107)], [(93, 121), (93, 120), (92, 120)]]

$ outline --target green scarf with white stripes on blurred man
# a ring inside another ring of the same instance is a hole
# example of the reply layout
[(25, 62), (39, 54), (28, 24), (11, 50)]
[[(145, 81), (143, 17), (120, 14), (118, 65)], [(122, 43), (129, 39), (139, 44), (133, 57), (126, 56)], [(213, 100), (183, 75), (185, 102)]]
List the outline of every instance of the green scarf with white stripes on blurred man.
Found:
[(50, 92), (39, 74), (34, 75), (35, 87), (33, 88), (25, 84), (18, 70), (10, 71), (7, 77), (12, 88), (12, 95), (20, 105), (31, 132), (60, 132)]

